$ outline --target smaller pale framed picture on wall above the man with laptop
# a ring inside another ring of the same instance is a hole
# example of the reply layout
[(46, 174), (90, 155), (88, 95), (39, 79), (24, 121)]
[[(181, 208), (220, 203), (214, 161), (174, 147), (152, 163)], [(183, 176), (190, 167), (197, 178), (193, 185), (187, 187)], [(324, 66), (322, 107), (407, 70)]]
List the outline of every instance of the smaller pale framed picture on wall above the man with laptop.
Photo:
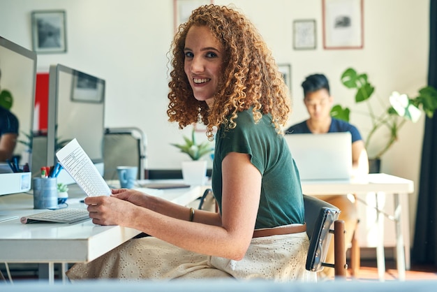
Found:
[(295, 20), (293, 33), (295, 50), (316, 49), (316, 20)]

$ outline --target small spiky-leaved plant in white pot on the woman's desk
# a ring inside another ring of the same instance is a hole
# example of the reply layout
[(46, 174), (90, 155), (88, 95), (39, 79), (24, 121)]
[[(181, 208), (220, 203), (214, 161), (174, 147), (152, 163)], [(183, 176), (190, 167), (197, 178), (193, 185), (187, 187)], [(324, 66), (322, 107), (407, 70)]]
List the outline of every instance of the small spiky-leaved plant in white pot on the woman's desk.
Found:
[(191, 131), (191, 138), (184, 136), (183, 144), (171, 143), (170, 145), (180, 149), (182, 153), (190, 156), (190, 161), (182, 161), (182, 177), (184, 182), (190, 185), (202, 185), (205, 183), (207, 174), (207, 161), (201, 158), (210, 154), (213, 150), (211, 143), (205, 141), (203, 143), (196, 143), (195, 130)]

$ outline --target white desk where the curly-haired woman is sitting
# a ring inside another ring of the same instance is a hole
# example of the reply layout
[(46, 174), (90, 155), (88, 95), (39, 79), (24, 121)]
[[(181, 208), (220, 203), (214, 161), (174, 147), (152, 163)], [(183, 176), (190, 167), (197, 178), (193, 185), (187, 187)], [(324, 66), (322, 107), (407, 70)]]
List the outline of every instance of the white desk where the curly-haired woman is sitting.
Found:
[[(159, 196), (185, 205), (200, 196), (200, 187), (169, 189)], [(86, 207), (84, 194), (70, 187), (69, 207)], [(0, 212), (22, 217), (43, 212), (34, 210), (33, 196), (13, 194), (0, 196)], [(92, 261), (138, 235), (140, 231), (121, 226), (98, 226), (91, 220), (76, 224), (21, 224), (19, 219), (0, 222), (0, 262), (48, 263), (49, 282), (54, 282), (54, 263), (62, 263), (63, 280), (67, 263)]]

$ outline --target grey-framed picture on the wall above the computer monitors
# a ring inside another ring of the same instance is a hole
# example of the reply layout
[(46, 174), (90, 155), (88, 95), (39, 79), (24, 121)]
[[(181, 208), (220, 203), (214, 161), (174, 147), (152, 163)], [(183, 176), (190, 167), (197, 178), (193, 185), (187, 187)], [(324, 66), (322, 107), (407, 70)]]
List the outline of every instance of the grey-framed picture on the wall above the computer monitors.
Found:
[(65, 10), (32, 11), (32, 43), (37, 53), (67, 51)]

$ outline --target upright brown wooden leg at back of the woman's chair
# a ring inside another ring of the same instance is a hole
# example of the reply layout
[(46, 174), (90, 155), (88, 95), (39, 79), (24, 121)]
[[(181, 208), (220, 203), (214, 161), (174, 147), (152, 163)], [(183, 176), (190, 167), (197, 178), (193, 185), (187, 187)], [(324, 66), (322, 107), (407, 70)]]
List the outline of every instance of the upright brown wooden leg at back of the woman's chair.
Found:
[(334, 271), (336, 278), (346, 278), (346, 246), (344, 235), (344, 221), (334, 221)]

